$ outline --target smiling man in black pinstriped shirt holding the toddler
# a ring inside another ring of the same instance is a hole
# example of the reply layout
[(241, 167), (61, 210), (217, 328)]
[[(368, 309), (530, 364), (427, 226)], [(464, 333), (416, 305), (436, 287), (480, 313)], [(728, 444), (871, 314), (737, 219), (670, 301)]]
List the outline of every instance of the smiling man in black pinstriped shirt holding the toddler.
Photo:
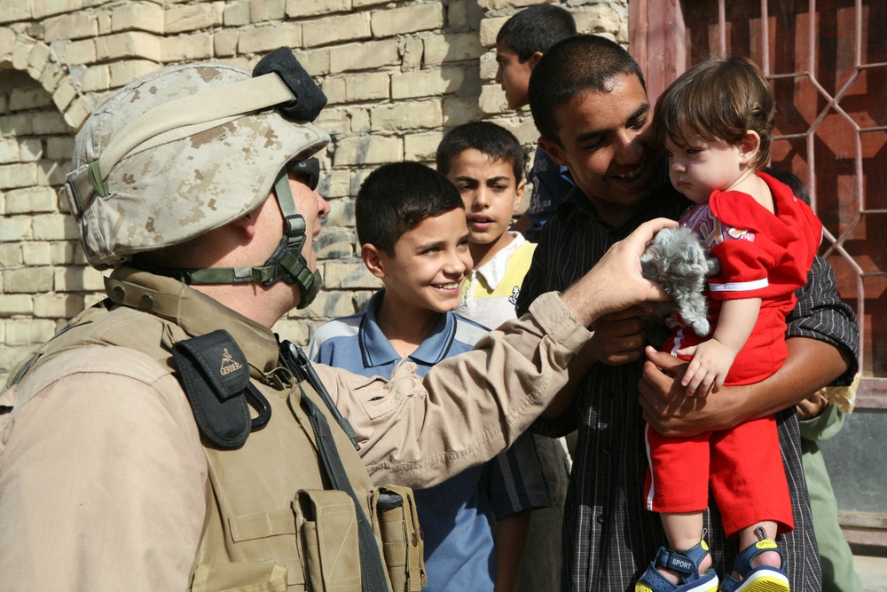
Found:
[[(518, 297), (519, 315), (544, 291), (569, 287), (645, 220), (676, 219), (691, 205), (662, 185), (663, 158), (652, 142), (643, 78), (617, 43), (600, 36), (557, 43), (533, 70), (529, 97), (540, 146), (569, 167), (577, 186), (546, 225)], [(704, 406), (686, 398), (680, 386), (687, 363), (645, 347), (642, 307), (594, 323), (585, 348), (588, 371), (574, 402), (549, 406), (548, 421), (535, 424), (551, 435), (579, 430), (564, 510), (567, 588), (632, 589), (648, 557), (663, 545), (659, 517), (637, 502), (647, 468), (643, 420), (666, 436), (694, 436), (773, 413), (795, 523), (795, 531), (780, 540), (793, 559), (789, 583), (798, 590), (820, 588), (794, 406), (828, 383), (850, 383), (858, 347), (852, 310), (837, 297), (827, 270), (817, 258), (798, 292), (787, 319), (789, 358), (783, 367), (761, 383), (725, 387)], [(727, 572), (727, 558), (738, 549), (713, 510), (707, 520), (712, 565)]]

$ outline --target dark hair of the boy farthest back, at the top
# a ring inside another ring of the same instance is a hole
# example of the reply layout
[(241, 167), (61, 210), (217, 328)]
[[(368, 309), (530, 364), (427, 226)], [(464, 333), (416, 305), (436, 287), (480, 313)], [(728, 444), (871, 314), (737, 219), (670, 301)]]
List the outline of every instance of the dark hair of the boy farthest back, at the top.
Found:
[(576, 20), (569, 11), (552, 4), (530, 6), (506, 20), (496, 36), (521, 62), (537, 51), (545, 53), (554, 43), (576, 35)]

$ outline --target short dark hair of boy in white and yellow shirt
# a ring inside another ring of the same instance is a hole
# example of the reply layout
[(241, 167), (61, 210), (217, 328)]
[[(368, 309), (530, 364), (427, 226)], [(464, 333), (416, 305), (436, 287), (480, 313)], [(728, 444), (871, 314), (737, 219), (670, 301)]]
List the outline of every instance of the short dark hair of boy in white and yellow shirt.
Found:
[(449, 175), (453, 159), (471, 149), (494, 161), (510, 164), (514, 169), (514, 183), (520, 185), (526, 162), (521, 143), (513, 133), (493, 122), (463, 123), (450, 130), (437, 146), (437, 171)]

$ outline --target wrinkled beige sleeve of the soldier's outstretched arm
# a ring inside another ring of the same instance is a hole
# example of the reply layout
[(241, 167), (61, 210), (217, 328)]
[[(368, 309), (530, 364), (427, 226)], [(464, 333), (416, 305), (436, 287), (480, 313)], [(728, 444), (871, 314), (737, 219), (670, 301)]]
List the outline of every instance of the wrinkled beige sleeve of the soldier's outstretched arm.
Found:
[(411, 362), (389, 381), (317, 368), (357, 432), (373, 482), (424, 488), (510, 446), (561, 390), (590, 336), (552, 293), (424, 379)]

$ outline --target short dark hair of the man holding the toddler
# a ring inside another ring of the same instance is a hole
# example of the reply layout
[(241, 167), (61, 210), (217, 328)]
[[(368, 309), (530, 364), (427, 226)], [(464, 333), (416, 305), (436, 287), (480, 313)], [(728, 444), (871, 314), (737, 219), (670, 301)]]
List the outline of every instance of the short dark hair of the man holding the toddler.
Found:
[(610, 91), (609, 81), (623, 74), (637, 76), (646, 90), (638, 62), (619, 43), (596, 35), (556, 43), (530, 75), (530, 111), (539, 134), (560, 145), (554, 111), (581, 92)]

